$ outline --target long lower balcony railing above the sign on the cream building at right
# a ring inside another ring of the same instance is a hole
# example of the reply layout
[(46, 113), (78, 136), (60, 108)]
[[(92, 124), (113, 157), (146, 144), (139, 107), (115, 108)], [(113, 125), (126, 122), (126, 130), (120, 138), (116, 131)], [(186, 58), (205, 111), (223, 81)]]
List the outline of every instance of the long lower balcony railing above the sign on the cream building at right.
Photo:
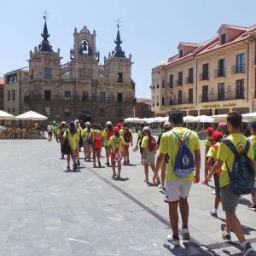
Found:
[(218, 101), (230, 101), (237, 99), (244, 99), (244, 92), (224, 92), (224, 93), (216, 93), (216, 94), (208, 94), (206, 96), (199, 96), (199, 102), (218, 102)]

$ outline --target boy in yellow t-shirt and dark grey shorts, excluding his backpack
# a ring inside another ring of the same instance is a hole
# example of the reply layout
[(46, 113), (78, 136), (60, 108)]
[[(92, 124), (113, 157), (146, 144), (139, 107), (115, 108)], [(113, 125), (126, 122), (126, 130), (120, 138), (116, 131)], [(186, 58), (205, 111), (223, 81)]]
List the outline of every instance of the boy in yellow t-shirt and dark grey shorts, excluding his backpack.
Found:
[[(230, 131), (230, 136), (227, 137), (227, 139), (230, 140), (230, 142), (236, 147), (236, 151), (238, 151), (239, 153), (245, 150), (245, 145), (247, 143), (247, 138), (241, 133), (241, 124), (241, 113), (228, 113), (227, 127)], [(248, 148), (247, 157), (253, 161), (254, 165), (256, 164), (253, 155), (252, 143)], [(236, 217), (236, 207), (238, 205), (240, 195), (236, 195), (230, 189), (229, 172), (232, 172), (234, 161), (235, 154), (231, 151), (230, 147), (228, 147), (224, 142), (220, 143), (218, 147), (217, 161), (212, 168), (211, 174), (217, 172), (218, 169), (221, 168), (219, 176), (219, 186), (222, 207), (226, 215), (226, 223), (230, 227), (230, 229), (236, 234), (238, 240), (241, 243), (241, 255), (248, 255), (249, 253), (253, 252), (253, 247), (248, 241), (246, 241), (243, 230), (241, 228), (241, 223)], [(227, 236), (229, 236), (231, 240), (228, 230), (225, 230), (222, 236), (224, 240), (226, 240)]]

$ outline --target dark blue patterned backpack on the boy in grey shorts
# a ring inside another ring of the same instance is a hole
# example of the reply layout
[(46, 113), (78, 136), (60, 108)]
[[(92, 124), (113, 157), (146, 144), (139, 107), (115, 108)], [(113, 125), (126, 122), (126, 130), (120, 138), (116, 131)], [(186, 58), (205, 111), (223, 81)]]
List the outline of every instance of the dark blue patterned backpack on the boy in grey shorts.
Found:
[(251, 146), (250, 140), (247, 139), (245, 148), (241, 153), (237, 151), (230, 139), (225, 138), (222, 142), (235, 154), (232, 172), (230, 172), (229, 166), (225, 162), (230, 176), (230, 190), (236, 195), (251, 194), (253, 192), (255, 172), (253, 161), (247, 157)]

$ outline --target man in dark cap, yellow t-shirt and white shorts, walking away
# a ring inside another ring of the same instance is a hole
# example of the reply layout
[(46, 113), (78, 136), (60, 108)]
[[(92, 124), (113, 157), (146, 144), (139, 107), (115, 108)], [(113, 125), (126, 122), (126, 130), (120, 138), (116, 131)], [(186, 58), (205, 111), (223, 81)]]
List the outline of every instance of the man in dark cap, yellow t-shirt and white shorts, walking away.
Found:
[(189, 241), (188, 196), (193, 181), (195, 183), (200, 181), (201, 154), (197, 134), (183, 127), (183, 114), (179, 110), (174, 110), (169, 116), (169, 121), (173, 129), (161, 137), (154, 181), (168, 154), (165, 201), (169, 205), (172, 235), (167, 236), (167, 240), (174, 246), (179, 246), (177, 208), (179, 207), (183, 222), (183, 241)]

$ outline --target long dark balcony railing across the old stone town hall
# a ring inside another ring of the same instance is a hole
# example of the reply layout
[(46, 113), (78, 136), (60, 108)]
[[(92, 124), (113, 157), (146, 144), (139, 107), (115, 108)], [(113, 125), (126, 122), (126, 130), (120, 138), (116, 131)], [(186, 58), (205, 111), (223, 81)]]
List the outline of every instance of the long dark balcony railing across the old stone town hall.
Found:
[(124, 97), (120, 101), (117, 97), (99, 97), (99, 96), (47, 96), (29, 95), (24, 96), (24, 102), (100, 102), (100, 103), (134, 103), (136, 98)]

